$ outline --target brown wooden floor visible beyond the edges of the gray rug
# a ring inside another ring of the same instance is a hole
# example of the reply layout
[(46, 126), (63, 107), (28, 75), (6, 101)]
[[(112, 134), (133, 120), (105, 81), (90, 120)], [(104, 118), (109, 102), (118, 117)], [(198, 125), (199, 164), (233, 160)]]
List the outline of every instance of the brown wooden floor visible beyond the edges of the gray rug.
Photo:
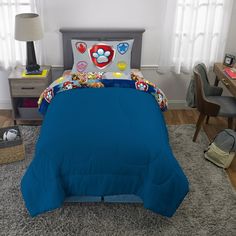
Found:
[[(164, 113), (166, 123), (169, 125), (196, 124), (198, 114), (198, 111), (195, 109), (169, 110)], [(9, 110), (0, 110), (0, 127), (6, 127), (12, 124), (11, 112)], [(220, 130), (225, 128), (227, 128), (227, 121), (223, 118), (210, 118), (209, 124), (204, 124), (203, 127), (209, 140), (212, 140)], [(234, 161), (236, 162), (236, 158)], [(232, 185), (236, 188), (236, 169), (228, 168), (227, 174)]]

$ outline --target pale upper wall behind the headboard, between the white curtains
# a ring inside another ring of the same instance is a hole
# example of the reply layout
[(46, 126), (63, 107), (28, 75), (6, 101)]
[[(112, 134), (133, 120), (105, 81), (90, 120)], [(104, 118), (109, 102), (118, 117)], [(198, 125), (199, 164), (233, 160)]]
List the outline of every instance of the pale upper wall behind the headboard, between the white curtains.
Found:
[(130, 27), (145, 28), (142, 64), (156, 65), (164, 13), (163, 2), (163, 0), (44, 1), (46, 62), (62, 65), (60, 28)]

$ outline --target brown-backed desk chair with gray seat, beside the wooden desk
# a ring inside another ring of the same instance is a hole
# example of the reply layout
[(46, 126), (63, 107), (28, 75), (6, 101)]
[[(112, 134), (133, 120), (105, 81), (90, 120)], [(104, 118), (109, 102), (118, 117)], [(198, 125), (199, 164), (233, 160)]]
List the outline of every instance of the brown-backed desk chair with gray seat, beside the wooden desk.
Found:
[(200, 112), (196, 124), (196, 131), (193, 136), (193, 142), (196, 141), (202, 123), (206, 116), (222, 116), (228, 118), (228, 128), (233, 128), (233, 118), (236, 117), (236, 98), (229, 96), (207, 96), (204, 92), (204, 73), (199, 64), (193, 70), (196, 83), (196, 103)]

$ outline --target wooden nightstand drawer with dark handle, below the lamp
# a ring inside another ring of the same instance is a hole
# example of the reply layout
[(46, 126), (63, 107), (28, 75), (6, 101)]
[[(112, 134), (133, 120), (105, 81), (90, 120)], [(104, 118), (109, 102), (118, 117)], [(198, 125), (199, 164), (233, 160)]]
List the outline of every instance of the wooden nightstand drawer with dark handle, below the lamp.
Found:
[(47, 87), (47, 80), (42, 81), (11, 81), (12, 96), (36, 96), (39, 97)]

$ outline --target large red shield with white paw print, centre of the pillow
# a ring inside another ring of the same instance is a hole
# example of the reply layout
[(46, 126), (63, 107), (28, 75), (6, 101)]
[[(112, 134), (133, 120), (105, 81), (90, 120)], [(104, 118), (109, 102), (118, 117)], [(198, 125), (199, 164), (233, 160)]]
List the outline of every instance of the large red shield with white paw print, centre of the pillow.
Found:
[(89, 49), (89, 55), (97, 68), (104, 69), (113, 61), (115, 50), (109, 45), (95, 44)]

